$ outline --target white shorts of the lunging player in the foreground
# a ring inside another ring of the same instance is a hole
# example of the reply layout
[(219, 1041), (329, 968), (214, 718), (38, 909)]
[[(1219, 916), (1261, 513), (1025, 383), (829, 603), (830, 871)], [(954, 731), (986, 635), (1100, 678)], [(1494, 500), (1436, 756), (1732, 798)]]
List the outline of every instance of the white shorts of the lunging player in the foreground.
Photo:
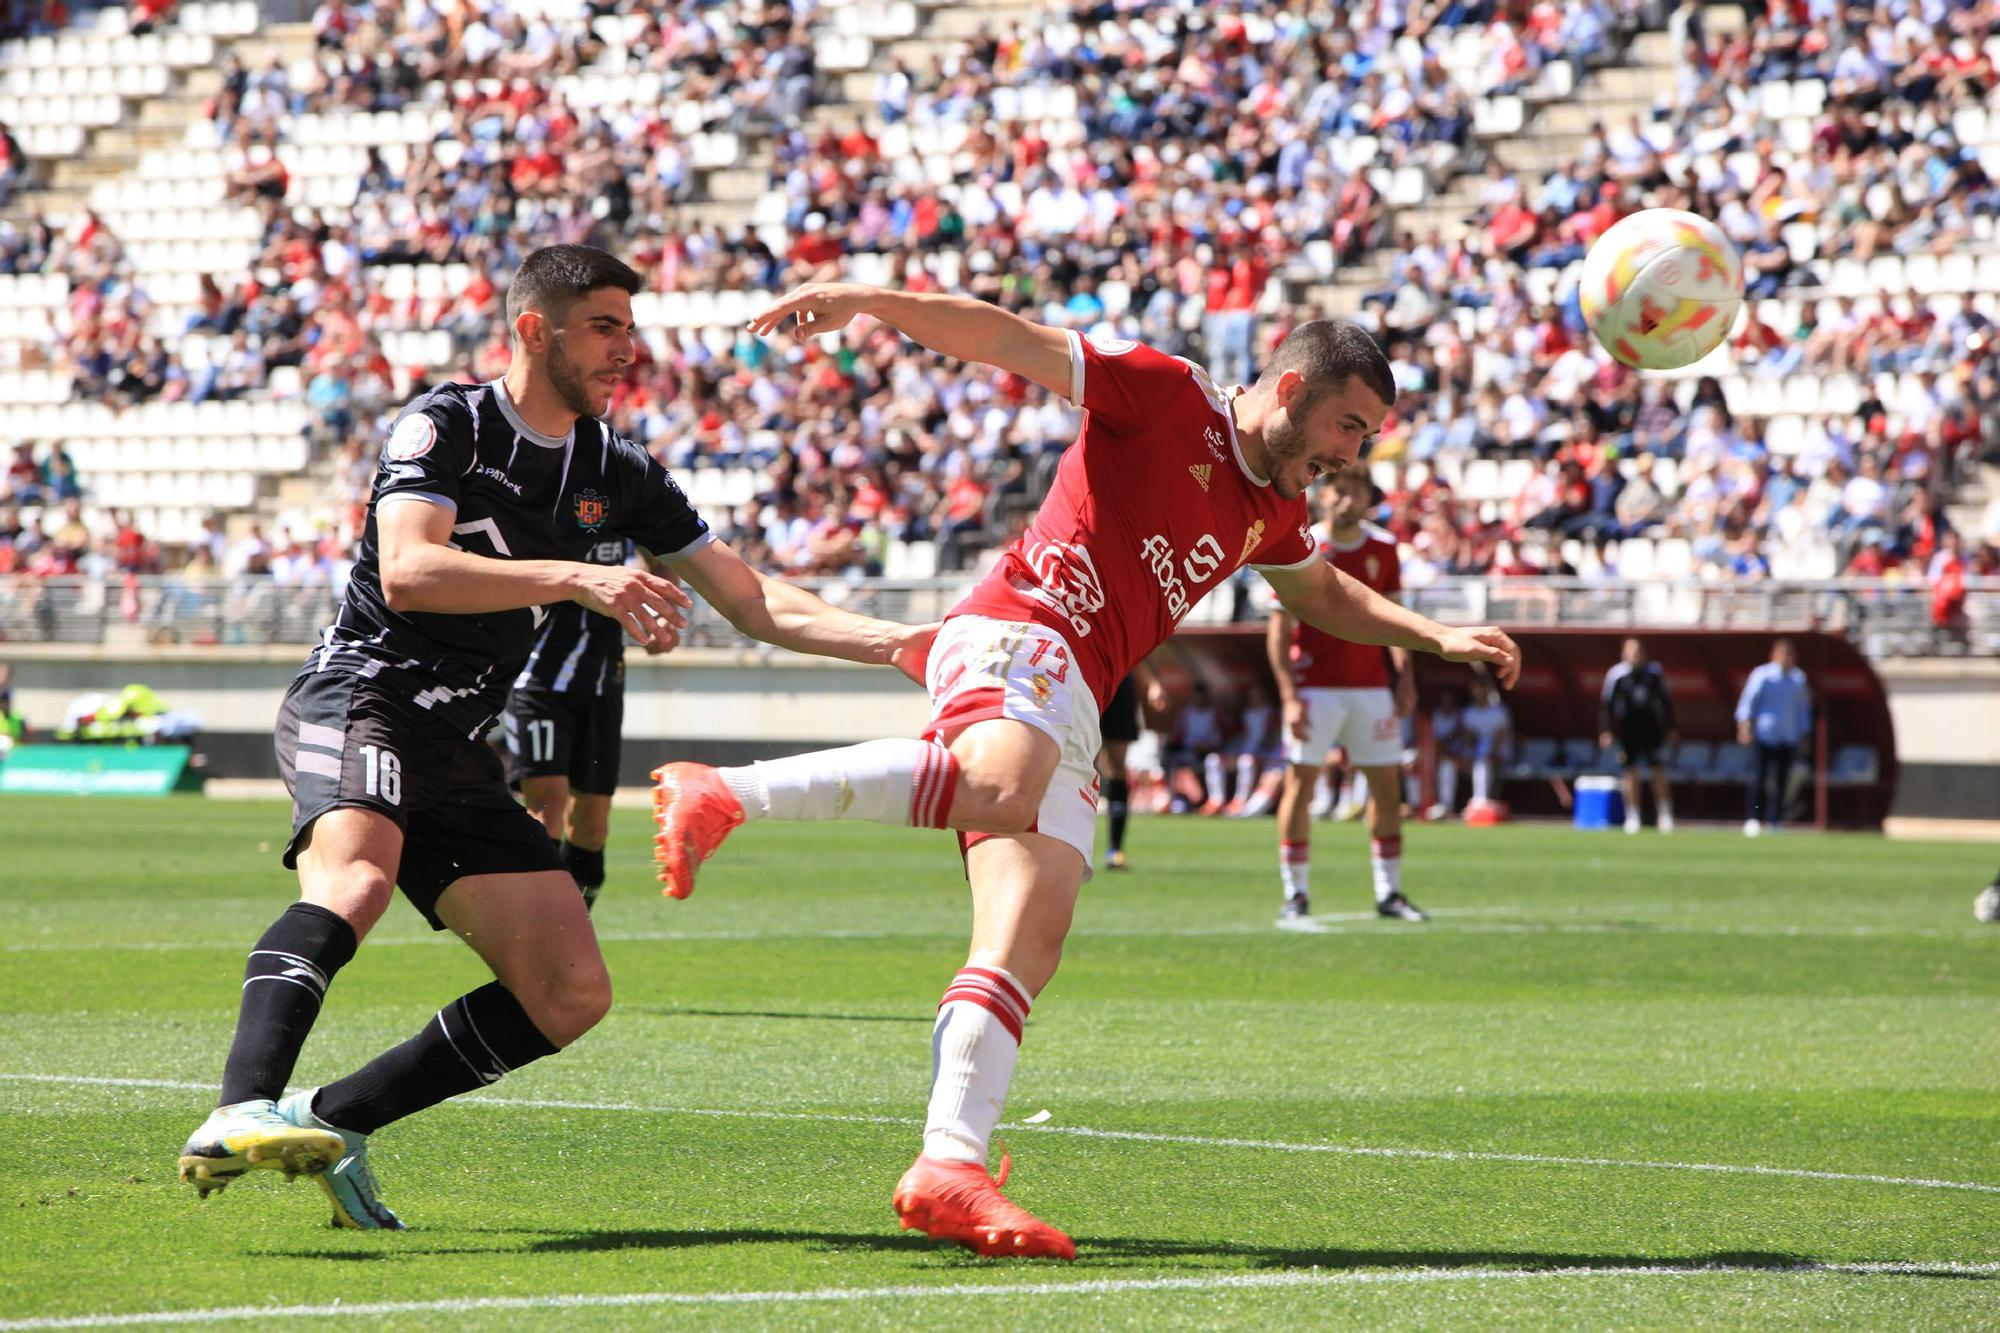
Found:
[[(1098, 701), (1062, 634), (1040, 624), (952, 616), (930, 644), (926, 741), (950, 741), (972, 723), (998, 717), (1034, 727), (1062, 757), (1030, 825), (1090, 859), (1098, 841)], [(978, 833), (960, 843), (978, 843)]]

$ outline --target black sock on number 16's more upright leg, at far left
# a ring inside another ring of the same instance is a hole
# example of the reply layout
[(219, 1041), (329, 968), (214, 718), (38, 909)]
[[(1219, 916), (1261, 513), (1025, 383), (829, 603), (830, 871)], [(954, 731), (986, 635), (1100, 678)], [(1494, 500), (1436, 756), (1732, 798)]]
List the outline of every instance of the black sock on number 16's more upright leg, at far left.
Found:
[(244, 963), (236, 1041), (222, 1065), (222, 1105), (284, 1095), (334, 973), (354, 957), (354, 927), (312, 903), (284, 909)]

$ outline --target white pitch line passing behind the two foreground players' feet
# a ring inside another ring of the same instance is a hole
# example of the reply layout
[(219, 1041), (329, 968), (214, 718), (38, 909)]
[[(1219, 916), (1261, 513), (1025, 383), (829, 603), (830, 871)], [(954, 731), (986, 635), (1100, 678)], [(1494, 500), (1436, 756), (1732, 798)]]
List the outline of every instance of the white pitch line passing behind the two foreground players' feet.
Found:
[[(102, 1079), (88, 1075), (34, 1075), (0, 1073), (6, 1083), (74, 1083), (86, 1087), (164, 1087), (198, 1093), (214, 1091), (214, 1083), (186, 1083), (178, 1079)], [(546, 1097), (488, 1097), (472, 1093), (446, 1105), (452, 1107), (518, 1107), (526, 1111), (618, 1111), (632, 1115), (702, 1115), (710, 1119), (734, 1121), (824, 1121), (834, 1125), (902, 1125), (920, 1127), (922, 1121), (902, 1115), (844, 1115), (806, 1111), (732, 1111), (720, 1107), (642, 1107), (628, 1101), (564, 1101)], [(2000, 1185), (1980, 1181), (1938, 1181), (1914, 1175), (1868, 1175), (1856, 1171), (1810, 1171), (1806, 1167), (1756, 1167), (1740, 1163), (1708, 1161), (1638, 1161), (1626, 1157), (1552, 1157), (1542, 1153), (1482, 1153), (1456, 1149), (1388, 1149), (1356, 1147), (1346, 1143), (1288, 1143), (1284, 1139), (1220, 1139), (1208, 1135), (1160, 1135), (1140, 1129), (1088, 1129), (1084, 1125), (1002, 1125), (1010, 1135), (1066, 1135), (1070, 1139), (1114, 1139), (1124, 1143), (1172, 1143), (1180, 1147), (1252, 1149), (1264, 1153), (1322, 1153), (1328, 1157), (1402, 1157), (1412, 1161), (1498, 1161), (1528, 1167), (1624, 1167), (1632, 1171), (1708, 1171), (1714, 1175), (1774, 1175), (1794, 1181), (1848, 1181), (1854, 1185), (1906, 1185), (1912, 1189), (1964, 1189), (1982, 1195), (2000, 1195)]]

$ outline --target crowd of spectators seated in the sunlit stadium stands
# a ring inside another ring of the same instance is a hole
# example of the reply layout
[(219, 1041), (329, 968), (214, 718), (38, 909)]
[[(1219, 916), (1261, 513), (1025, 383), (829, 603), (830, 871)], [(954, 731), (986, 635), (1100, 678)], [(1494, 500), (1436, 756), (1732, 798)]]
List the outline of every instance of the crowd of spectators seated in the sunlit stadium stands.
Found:
[[(616, 50), (590, 22), (604, 16), (622, 20)], [(1404, 396), (1374, 458), (1398, 468), (1380, 518), (1408, 542), (1408, 582), (1616, 574), (1628, 536), (1686, 538), (1710, 578), (1762, 578), (1824, 546), (1856, 574), (1926, 576), (1940, 558), (2000, 570), (2000, 534), (1952, 534), (1944, 516), (2000, 424), (1992, 320), (1972, 302), (1846, 296), (1826, 316), (1818, 302), (1828, 262), (1946, 254), (2000, 212), (1954, 122), (1994, 90), (1990, 4), (1780, 0), (1728, 36), (1694, 0), (1672, 14), (1636, 0), (1258, 0), (1228, 14), (1106, 2), (1046, 18), (922, 68), (878, 54), (876, 116), (862, 122), (804, 114), (836, 88), (814, 68), (810, 4), (618, 4), (564, 22), (326, 0), (308, 66), (230, 54), (210, 108), (230, 198), (262, 218), (252, 274), (206, 278), (194, 318), (162, 330), (94, 216), (60, 234), (0, 228), (0, 270), (70, 276), (50, 358), (96, 400), (260, 396), (274, 368), (296, 366), (340, 490), (338, 522), (304, 542), (330, 566), (356, 534), (386, 414), (426, 376), (500, 374), (506, 272), (538, 244), (588, 240), (660, 294), (776, 290), (866, 260), (910, 290), (1144, 338), (1222, 380), (1252, 376), (1310, 316), (1284, 300), (1288, 280), (1296, 292), (1326, 254), (1384, 256), (1366, 318)], [(1682, 60), (1654, 114), (1596, 126), (1550, 172), (1516, 170), (1508, 144), (1474, 136), (1478, 98), (1562, 64), (1588, 78), (1662, 22)], [(1462, 34), (1476, 34), (1474, 60)], [(566, 92), (608, 58), (656, 92)], [(1826, 96), (1800, 136), (1760, 90), (1810, 78)], [(770, 142), (782, 252), (748, 216), (718, 224), (712, 206), (686, 206), (700, 168), (682, 104), (700, 106), (700, 132)], [(410, 106), (448, 110), (448, 126), (408, 156), (370, 150), (352, 216), (296, 206), (276, 152), (292, 118)], [(1348, 156), (1358, 138), (1376, 142), (1366, 160)], [(1400, 230), (1378, 166), (1432, 188), (1470, 172), (1464, 238)], [(1814, 412), (1774, 448), (1774, 422), (1732, 410), (1718, 380), (1682, 408), (1674, 382), (1598, 352), (1538, 272), (1642, 206), (1718, 218), (1754, 298), (1804, 292), (1784, 306), (1792, 326), (1746, 320), (1746, 372), (1862, 376), (1856, 408)], [(466, 264), (468, 278), (392, 296), (388, 270), (410, 262)], [(384, 336), (408, 328), (446, 330), (452, 364), (396, 364)], [(198, 368), (176, 352), (186, 334), (212, 342)], [(1906, 378), (1878, 396), (1874, 372)], [(838, 348), (680, 330), (642, 346), (612, 420), (676, 470), (754, 468), (756, 498), (712, 514), (750, 558), (860, 574), (880, 572), (894, 542), (932, 540), (952, 570), (1008, 540), (1078, 414), (880, 328)], [(1476, 458), (1532, 472), (1500, 500), (1468, 500), (1450, 478)]]

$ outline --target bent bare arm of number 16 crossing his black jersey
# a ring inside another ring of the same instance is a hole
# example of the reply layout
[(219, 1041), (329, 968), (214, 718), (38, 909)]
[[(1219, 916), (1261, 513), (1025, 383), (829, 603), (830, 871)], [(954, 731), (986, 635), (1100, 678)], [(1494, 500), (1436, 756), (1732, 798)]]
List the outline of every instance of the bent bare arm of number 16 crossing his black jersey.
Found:
[(548, 602), (582, 602), (642, 644), (672, 646), (692, 604), (642, 568), (570, 560), (494, 560), (452, 546), (454, 512), (428, 500), (376, 506), (382, 596), (390, 610), (476, 616)]

